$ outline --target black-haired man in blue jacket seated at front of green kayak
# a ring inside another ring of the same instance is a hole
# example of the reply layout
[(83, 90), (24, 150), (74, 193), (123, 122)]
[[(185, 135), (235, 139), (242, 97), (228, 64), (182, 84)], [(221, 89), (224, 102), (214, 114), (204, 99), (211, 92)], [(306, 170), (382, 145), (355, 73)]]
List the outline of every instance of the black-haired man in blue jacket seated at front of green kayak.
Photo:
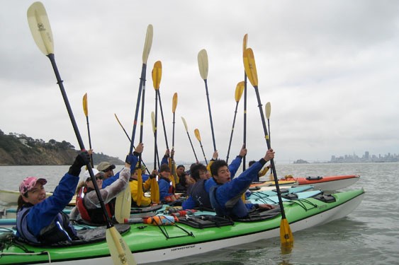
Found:
[(256, 208), (274, 208), (270, 204), (245, 204), (241, 199), (242, 194), (247, 191), (249, 185), (257, 177), (257, 172), (272, 158), (274, 158), (274, 151), (269, 149), (264, 158), (261, 158), (234, 179), (231, 179), (230, 170), (224, 160), (213, 162), (210, 166), (212, 173), (210, 181), (215, 182), (215, 185), (210, 187), (209, 196), (210, 203), (218, 216), (245, 218), (248, 216), (249, 211)]

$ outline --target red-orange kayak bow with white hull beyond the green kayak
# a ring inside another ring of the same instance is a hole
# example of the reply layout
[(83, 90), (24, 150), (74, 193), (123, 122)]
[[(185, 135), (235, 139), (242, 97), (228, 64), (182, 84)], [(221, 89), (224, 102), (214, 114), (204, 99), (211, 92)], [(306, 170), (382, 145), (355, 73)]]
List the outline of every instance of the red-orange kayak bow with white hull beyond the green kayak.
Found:
[(299, 185), (313, 185), (322, 191), (336, 191), (348, 187), (359, 180), (359, 175), (326, 176), (326, 177), (293, 177), (287, 175), (285, 180), (295, 180)]

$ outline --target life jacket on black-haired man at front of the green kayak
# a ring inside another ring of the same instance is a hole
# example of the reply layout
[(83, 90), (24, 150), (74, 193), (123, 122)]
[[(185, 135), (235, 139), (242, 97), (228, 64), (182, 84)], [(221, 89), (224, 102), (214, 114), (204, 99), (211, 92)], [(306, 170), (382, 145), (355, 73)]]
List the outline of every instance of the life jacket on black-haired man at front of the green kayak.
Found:
[(230, 216), (232, 218), (243, 218), (248, 216), (248, 209), (241, 199), (241, 194), (227, 201), (225, 205), (220, 205), (218, 199), (216, 199), (216, 192), (219, 186), (210, 187), (209, 191), (210, 203), (213, 209), (215, 209), (216, 215)]

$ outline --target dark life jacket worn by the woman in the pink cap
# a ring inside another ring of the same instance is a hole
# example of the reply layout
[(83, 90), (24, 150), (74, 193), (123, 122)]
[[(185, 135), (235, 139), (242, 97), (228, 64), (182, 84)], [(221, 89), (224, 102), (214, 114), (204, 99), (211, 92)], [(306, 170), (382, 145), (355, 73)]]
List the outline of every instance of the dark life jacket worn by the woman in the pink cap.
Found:
[(36, 244), (51, 245), (62, 241), (72, 241), (77, 239), (77, 232), (74, 227), (69, 223), (69, 217), (65, 213), (58, 213), (55, 220), (40, 230), (40, 234), (35, 236), (30, 232), (28, 227), (28, 215), (30, 207), (23, 207), (17, 213), (17, 236), (28, 242)]

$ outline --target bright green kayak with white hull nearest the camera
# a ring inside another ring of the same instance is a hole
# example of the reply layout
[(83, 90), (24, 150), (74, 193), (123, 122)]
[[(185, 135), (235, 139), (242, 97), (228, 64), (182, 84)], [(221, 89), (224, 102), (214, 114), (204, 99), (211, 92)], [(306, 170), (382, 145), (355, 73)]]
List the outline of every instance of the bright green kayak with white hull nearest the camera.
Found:
[[(363, 197), (364, 190), (356, 189), (285, 201), (283, 206), (291, 230), (296, 232), (347, 216), (359, 206)], [(269, 211), (264, 212), (266, 218), (250, 222), (216, 218), (212, 217), (210, 212), (196, 211), (195, 216), (179, 217), (179, 222), (174, 225), (134, 223), (128, 225), (126, 232), (120, 233), (138, 264), (162, 262), (279, 237), (279, 208)], [(274, 214), (271, 214), (272, 211)], [(4, 238), (4, 233), (0, 232), (0, 238)], [(1, 264), (49, 264), (50, 259), (52, 264), (57, 265), (112, 264), (106, 240), (60, 247), (3, 243), (4, 247), (0, 252)]]

